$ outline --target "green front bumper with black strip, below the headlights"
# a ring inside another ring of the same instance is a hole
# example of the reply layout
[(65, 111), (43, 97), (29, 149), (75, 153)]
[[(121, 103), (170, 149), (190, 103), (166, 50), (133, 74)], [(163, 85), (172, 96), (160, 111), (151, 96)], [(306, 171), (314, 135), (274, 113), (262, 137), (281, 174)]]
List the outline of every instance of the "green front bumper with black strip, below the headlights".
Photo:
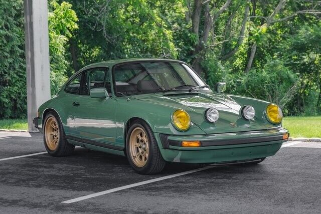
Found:
[[(274, 155), (281, 147), (286, 129), (174, 136), (156, 134), (163, 158), (170, 162), (216, 163)], [(183, 147), (182, 141), (200, 141), (200, 147)]]

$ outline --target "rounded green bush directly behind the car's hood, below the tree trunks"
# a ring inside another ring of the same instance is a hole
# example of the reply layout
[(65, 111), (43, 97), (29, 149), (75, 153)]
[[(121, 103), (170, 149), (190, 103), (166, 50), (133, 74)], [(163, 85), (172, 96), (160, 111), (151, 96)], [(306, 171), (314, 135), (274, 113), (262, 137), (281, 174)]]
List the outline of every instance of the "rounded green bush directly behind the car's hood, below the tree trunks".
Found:
[(267, 62), (263, 69), (252, 69), (247, 74), (234, 73), (226, 77), (228, 92), (275, 103), (288, 114), (286, 104), (298, 90), (298, 77), (279, 60)]

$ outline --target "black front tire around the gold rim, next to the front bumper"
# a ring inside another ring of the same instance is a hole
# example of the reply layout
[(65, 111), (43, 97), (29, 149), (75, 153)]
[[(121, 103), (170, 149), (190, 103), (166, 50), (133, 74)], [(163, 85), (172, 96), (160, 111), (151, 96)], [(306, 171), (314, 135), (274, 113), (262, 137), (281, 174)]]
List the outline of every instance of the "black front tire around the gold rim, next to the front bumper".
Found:
[[(130, 156), (131, 155), (131, 151), (129, 147), (130, 135), (132, 131), (137, 127), (143, 129), (148, 138), (149, 154), (145, 165), (142, 167), (138, 167), (137, 165), (135, 165), (134, 161), (132, 160), (132, 157)], [(139, 174), (156, 174), (161, 172), (166, 165), (166, 161), (163, 159), (162, 154), (159, 151), (157, 141), (155, 139), (155, 136), (151, 128), (148, 126), (148, 124), (146, 124), (142, 120), (135, 120), (127, 131), (126, 155), (131, 167)]]

